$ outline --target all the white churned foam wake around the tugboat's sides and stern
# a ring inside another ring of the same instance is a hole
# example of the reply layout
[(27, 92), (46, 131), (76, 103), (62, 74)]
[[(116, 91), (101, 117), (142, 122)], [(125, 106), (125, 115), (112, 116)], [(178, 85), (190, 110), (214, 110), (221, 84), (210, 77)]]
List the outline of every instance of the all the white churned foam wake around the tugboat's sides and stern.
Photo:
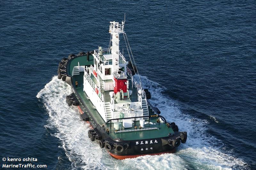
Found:
[[(136, 76), (135, 76), (136, 77)], [(179, 106), (162, 92), (164, 87), (141, 76), (144, 88), (150, 89), (150, 102), (161, 110), (170, 122), (176, 122), (181, 131), (188, 132), (186, 144), (181, 144), (175, 154), (144, 156), (116, 160), (105, 149), (87, 137), (88, 124), (82, 122), (76, 107), (69, 107), (66, 95), (72, 93), (70, 86), (54, 76), (37, 94), (49, 113), (45, 127), (62, 142), (62, 148), (73, 169), (231, 169), (243, 168), (245, 163), (232, 155), (219, 152), (223, 145), (205, 132), (207, 121), (195, 119), (180, 112)]]

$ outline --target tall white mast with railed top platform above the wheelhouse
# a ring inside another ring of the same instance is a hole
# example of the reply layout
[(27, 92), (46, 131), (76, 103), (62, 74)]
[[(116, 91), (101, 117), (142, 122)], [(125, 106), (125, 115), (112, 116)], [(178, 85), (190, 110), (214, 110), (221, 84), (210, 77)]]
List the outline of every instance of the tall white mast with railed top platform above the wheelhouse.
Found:
[(112, 72), (119, 68), (119, 34), (124, 31), (124, 22), (110, 22), (109, 33), (112, 34)]

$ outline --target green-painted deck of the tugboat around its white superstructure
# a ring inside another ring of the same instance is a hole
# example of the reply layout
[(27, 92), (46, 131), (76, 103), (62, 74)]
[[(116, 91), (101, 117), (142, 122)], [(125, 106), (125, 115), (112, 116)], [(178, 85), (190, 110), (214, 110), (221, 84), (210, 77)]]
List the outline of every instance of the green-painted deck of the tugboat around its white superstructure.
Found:
[[(73, 59), (71, 63), (69, 64), (69, 68), (72, 68), (74, 66), (77, 66), (77, 62), (79, 62), (80, 66), (82, 65), (93, 65), (93, 56), (90, 55), (90, 61), (86, 61), (86, 56), (81, 56)], [(69, 69), (69, 71), (71, 71)], [(73, 76), (73, 87), (76, 88), (77, 90), (77, 95), (80, 96), (80, 98), (83, 100), (83, 102), (86, 104), (86, 106), (89, 108), (90, 112), (92, 113), (92, 117), (94, 120), (96, 120), (96, 123), (102, 125), (105, 124), (105, 121), (102, 119), (98, 111), (93, 108), (92, 102), (87, 98), (86, 93), (83, 91), (84, 85), (83, 85), (83, 76), (84, 72), (80, 72), (80, 75), (75, 75)], [(91, 77), (93, 82), (96, 84), (96, 79), (92, 76)], [(128, 77), (129, 79), (129, 77)], [(75, 86), (75, 82), (78, 82), (78, 86)], [(132, 85), (129, 84), (129, 90), (132, 90), (132, 96), (131, 96), (131, 101), (138, 101), (137, 97), (137, 89), (135, 87), (132, 88)], [(110, 91), (102, 91), (104, 95), (104, 100), (105, 102), (110, 101), (110, 96), (109, 92)], [(84, 107), (84, 106), (82, 106)], [(154, 112), (150, 107), (148, 107), (149, 110), (149, 115), (154, 115)], [(158, 129), (153, 129), (153, 130), (143, 130), (143, 131), (132, 131), (132, 132), (122, 132), (122, 133), (115, 133), (114, 129), (114, 123), (111, 123), (112, 128), (110, 129), (110, 123), (107, 124), (106, 129), (109, 129), (110, 133), (109, 135), (116, 139), (120, 138), (121, 140), (139, 140), (139, 139), (149, 139), (149, 138), (158, 138), (158, 137), (167, 137), (169, 133), (174, 133), (172, 128), (167, 128), (167, 126), (164, 123), (156, 123), (156, 117), (151, 117), (150, 122), (155, 123), (154, 125), (150, 124), (150, 128), (157, 127)], [(148, 120), (145, 120), (148, 122)], [(140, 123), (139, 121), (135, 122), (136, 126), (139, 129)], [(148, 127), (148, 124), (145, 124), (145, 127)], [(134, 124), (132, 124), (132, 128), (126, 128), (127, 129), (134, 129)], [(124, 127), (121, 126), (121, 130), (124, 130)]]

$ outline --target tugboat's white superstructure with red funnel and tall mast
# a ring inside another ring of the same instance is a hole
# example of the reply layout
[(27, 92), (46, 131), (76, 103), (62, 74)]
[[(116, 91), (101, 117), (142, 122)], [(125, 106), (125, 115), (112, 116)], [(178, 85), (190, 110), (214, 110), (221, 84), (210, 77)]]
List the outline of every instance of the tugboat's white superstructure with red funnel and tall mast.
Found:
[[(105, 122), (121, 117), (146, 116), (145, 92), (132, 78), (128, 62), (119, 51), (119, 35), (124, 33), (124, 22), (110, 22), (109, 33), (112, 46), (94, 50), (94, 66), (84, 69), (83, 90)], [(131, 121), (126, 119), (123, 125), (130, 126)]]

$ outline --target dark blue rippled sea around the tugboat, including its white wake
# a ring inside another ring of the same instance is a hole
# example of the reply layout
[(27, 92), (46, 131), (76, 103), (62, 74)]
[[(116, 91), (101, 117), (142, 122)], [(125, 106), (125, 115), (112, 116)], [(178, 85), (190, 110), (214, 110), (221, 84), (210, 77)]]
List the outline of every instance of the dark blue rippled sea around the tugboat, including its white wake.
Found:
[[(255, 9), (252, 0), (0, 1), (1, 168), (4, 157), (33, 157), (59, 170), (256, 169)], [(124, 13), (150, 102), (188, 132), (175, 154), (116, 160), (65, 103), (59, 61), (108, 48), (109, 21)]]

